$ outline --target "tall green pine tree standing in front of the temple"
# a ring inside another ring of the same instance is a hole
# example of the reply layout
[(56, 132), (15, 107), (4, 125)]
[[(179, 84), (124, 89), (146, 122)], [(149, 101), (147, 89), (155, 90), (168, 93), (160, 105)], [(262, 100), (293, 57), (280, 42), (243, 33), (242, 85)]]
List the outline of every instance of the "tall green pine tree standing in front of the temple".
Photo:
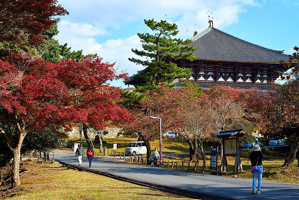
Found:
[[(143, 50), (132, 51), (146, 59), (129, 58), (136, 64), (141, 64), (146, 69), (141, 74), (135, 74), (136, 80), (141, 83), (136, 85), (139, 91), (156, 90), (159, 82), (171, 83), (175, 78), (190, 77), (190, 69), (178, 67), (170, 59), (188, 59), (193, 61), (195, 48), (189, 46), (192, 40), (173, 38), (178, 34), (177, 25), (161, 20), (144, 20), (145, 24), (154, 31), (154, 34), (138, 33)], [(169, 84), (168, 87), (174, 87)]]

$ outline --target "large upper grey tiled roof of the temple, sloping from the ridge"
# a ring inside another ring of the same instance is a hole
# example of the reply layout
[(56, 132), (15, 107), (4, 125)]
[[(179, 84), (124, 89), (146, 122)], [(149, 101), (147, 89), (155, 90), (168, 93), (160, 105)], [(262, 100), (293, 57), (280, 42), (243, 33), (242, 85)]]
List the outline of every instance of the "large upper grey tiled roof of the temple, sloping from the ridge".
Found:
[(199, 60), (219, 60), (250, 63), (279, 63), (289, 61), (283, 51), (269, 49), (250, 43), (217, 28), (207, 28), (191, 38), (191, 46), (197, 50), (194, 55)]

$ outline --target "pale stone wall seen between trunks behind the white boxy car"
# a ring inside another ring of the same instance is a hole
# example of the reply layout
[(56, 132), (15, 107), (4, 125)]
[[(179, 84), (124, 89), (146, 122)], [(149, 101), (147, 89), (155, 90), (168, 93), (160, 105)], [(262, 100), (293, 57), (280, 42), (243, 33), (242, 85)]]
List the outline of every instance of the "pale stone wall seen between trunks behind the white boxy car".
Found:
[[(89, 137), (94, 138), (97, 135), (97, 133), (95, 133), (92, 130), (93, 130), (92, 128), (88, 128), (87, 133), (89, 134)], [(106, 131), (108, 131), (108, 134), (103, 135), (102, 136), (103, 138), (114, 138), (121, 131), (121, 128), (117, 128), (117, 127), (108, 128), (107, 127)], [(68, 132), (68, 136), (70, 138), (80, 138), (79, 127), (73, 127), (73, 130)], [(82, 132), (82, 136), (83, 136), (83, 132)], [(120, 135), (120, 136), (122, 136), (122, 135)]]

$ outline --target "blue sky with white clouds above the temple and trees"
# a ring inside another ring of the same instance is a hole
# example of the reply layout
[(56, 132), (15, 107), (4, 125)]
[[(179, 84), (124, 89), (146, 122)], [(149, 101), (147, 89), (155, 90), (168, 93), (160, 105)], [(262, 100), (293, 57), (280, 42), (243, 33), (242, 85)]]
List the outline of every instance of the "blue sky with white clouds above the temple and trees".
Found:
[[(291, 0), (58, 0), (70, 15), (62, 16), (56, 39), (83, 54), (97, 53), (133, 75), (143, 66), (129, 62), (142, 49), (137, 33), (150, 33), (144, 19), (178, 25), (177, 37), (189, 39), (213, 25), (228, 34), (292, 54), (298, 44), (299, 3)], [(210, 17), (209, 17), (210, 15)], [(114, 86), (125, 88), (122, 81)]]

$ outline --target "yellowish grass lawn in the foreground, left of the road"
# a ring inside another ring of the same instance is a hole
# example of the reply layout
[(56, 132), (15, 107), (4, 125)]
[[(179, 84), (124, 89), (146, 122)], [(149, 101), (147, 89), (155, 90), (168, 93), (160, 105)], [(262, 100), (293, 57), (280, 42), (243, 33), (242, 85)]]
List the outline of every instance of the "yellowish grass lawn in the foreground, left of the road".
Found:
[[(0, 199), (189, 199), (172, 193), (68, 169), (60, 163), (21, 161), (21, 186), (0, 186)], [(7, 172), (7, 171), (6, 171)], [(4, 172), (5, 173), (5, 172)]]

